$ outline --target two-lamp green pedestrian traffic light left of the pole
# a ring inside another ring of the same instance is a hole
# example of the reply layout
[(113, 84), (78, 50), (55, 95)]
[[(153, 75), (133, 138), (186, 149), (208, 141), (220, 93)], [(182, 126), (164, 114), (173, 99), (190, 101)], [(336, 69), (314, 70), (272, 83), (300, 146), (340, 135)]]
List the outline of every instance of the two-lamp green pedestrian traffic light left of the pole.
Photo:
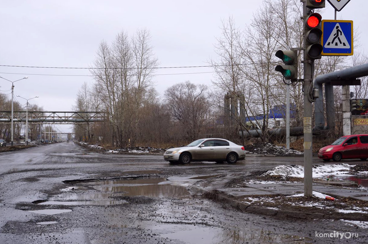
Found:
[(286, 80), (298, 79), (298, 52), (297, 50), (279, 50), (276, 57), (281, 59), (285, 65), (277, 65), (275, 70), (282, 73)]

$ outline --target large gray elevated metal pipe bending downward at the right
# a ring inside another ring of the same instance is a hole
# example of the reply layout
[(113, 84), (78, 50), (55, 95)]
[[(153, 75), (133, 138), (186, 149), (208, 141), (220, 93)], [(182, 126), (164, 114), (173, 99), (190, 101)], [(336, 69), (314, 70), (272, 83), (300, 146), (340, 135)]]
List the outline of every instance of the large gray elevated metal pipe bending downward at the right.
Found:
[[(333, 86), (329, 84), (329, 82), (331, 80), (355, 79), (363, 76), (368, 76), (368, 63), (328, 74), (321, 74), (315, 78), (314, 87), (319, 89), (319, 98), (317, 98), (314, 103), (315, 106), (314, 131), (335, 128), (335, 105), (333, 102), (334, 97)], [(326, 93), (326, 120), (327, 120), (326, 127), (325, 127), (325, 118), (323, 117), (323, 92), (322, 92), (323, 83), (325, 83), (325, 93)]]

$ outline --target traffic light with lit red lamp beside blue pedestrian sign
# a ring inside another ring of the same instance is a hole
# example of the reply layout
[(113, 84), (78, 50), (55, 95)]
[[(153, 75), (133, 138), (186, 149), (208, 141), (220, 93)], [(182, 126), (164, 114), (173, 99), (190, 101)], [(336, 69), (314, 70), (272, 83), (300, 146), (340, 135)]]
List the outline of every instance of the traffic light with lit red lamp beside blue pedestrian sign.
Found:
[(320, 14), (313, 13), (305, 18), (305, 50), (307, 59), (321, 59), (323, 46), (321, 45), (322, 17)]

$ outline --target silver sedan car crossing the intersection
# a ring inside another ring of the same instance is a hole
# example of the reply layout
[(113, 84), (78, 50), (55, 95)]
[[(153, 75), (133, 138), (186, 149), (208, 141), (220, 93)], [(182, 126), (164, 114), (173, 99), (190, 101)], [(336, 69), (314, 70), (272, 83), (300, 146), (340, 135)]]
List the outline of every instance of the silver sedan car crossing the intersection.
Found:
[(223, 163), (227, 161), (229, 164), (234, 164), (238, 160), (245, 159), (245, 149), (244, 146), (236, 145), (225, 139), (205, 138), (181, 148), (168, 149), (163, 158), (170, 163), (187, 164), (190, 161)]

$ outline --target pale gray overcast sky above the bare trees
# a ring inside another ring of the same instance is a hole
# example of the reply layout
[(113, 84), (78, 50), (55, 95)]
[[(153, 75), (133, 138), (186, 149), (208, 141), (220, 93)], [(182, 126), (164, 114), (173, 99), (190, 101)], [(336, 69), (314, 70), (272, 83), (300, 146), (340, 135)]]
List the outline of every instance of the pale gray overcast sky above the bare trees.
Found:
[[(64, 0), (64, 1), (3, 1), (0, 25), (0, 65), (89, 67), (100, 41), (110, 43), (124, 30), (131, 36), (138, 28), (151, 32), (153, 50), (160, 66), (206, 65), (213, 52), (215, 37), (220, 36), (221, 20), (232, 15), (236, 25), (244, 28), (261, 0), (220, 1), (126, 1), (126, 0)], [(326, 1), (323, 19), (333, 19), (334, 9)], [(368, 49), (366, 0), (351, 0), (337, 19), (353, 20), (361, 32), (359, 50)], [(354, 52), (357, 50), (355, 49)], [(212, 72), (210, 68), (163, 69), (156, 74)], [(5, 73), (26, 73), (5, 74)], [(0, 67), (0, 76), (15, 83), (14, 95), (32, 100), (45, 110), (70, 111), (78, 89), (87, 76), (40, 76), (32, 74), (89, 75), (88, 70), (37, 69)], [(185, 80), (211, 84), (212, 73), (158, 75), (156, 90), (163, 94), (170, 85)], [(0, 90), (11, 83), (0, 79)], [(9, 95), (10, 96), (10, 95)], [(21, 101), (21, 98), (18, 98)], [(58, 125), (70, 131), (70, 125)]]

